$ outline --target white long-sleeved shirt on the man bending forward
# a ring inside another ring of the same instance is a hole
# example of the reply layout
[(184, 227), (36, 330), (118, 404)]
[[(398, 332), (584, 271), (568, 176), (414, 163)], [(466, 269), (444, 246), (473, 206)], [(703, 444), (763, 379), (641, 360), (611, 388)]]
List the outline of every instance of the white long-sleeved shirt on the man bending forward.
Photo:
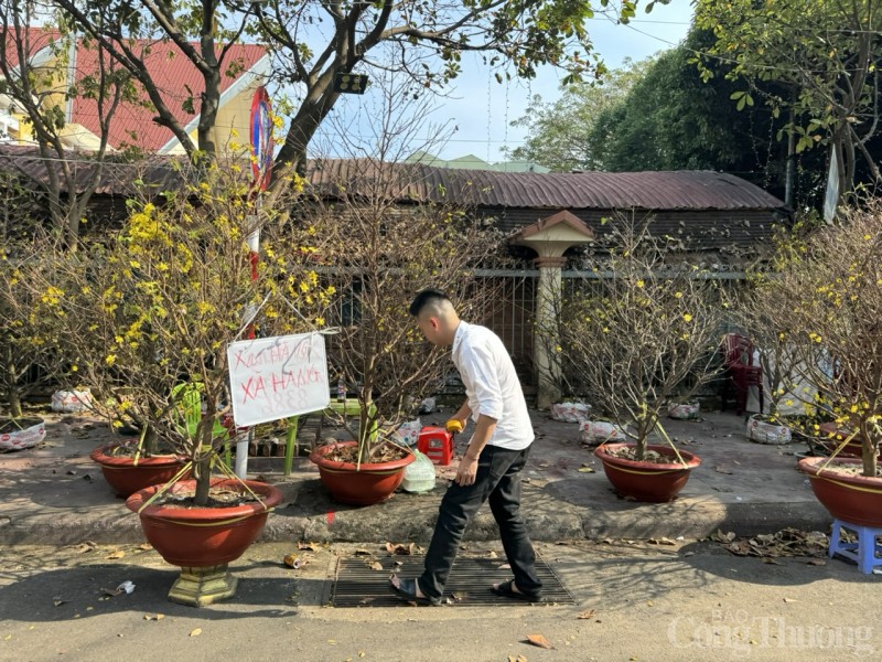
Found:
[(472, 418), (496, 419), (487, 444), (510, 450), (527, 448), (533, 424), (515, 364), (503, 341), (486, 327), (461, 321), (453, 338), (453, 364), (460, 371)]

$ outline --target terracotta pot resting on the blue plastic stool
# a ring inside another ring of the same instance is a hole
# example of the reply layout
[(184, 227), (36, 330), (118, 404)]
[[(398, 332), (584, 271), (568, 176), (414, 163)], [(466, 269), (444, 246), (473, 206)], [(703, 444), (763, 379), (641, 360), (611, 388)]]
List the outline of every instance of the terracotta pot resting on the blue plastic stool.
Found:
[[(830, 469), (821, 469), (827, 458), (804, 458), (798, 468), (807, 473), (811, 491), (829, 513), (843, 522), (859, 526), (882, 527), (882, 478), (851, 476)], [(835, 459), (831, 465), (863, 467), (858, 459)]]

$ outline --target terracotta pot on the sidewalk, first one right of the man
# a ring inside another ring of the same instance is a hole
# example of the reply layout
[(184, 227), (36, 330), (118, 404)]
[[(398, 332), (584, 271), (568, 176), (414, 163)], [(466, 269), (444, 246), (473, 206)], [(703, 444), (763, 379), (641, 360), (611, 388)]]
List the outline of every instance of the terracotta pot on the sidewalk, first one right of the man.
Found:
[(681, 450), (680, 456), (687, 463), (684, 466), (677, 460), (674, 449), (668, 446), (648, 447), (649, 450), (671, 458), (670, 463), (663, 465), (617, 458), (609, 452), (633, 446), (633, 444), (604, 444), (594, 449), (594, 456), (603, 462), (603, 471), (616, 491), (637, 501), (649, 503), (673, 501), (689, 480), (689, 472), (701, 463), (697, 456)]

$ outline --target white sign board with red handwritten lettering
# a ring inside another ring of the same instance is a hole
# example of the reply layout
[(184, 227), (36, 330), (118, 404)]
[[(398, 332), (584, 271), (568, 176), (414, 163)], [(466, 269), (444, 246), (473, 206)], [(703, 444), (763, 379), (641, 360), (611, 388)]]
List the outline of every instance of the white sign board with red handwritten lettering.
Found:
[(227, 345), (227, 362), (239, 427), (316, 412), (331, 402), (320, 333), (234, 342)]

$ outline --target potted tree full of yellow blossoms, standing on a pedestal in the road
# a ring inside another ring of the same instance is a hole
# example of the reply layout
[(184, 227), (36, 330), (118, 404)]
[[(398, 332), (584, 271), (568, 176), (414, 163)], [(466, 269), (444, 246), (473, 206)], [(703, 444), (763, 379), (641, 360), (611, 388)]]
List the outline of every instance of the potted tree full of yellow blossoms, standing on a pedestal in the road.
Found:
[[(299, 255), (308, 252), (292, 244), (293, 229), (278, 242), (284, 250), (273, 250), (276, 237), (267, 237), (267, 259), (252, 273), (250, 182), (235, 166), (183, 172), (182, 180), (180, 190), (135, 204), (119, 234), (66, 256), (45, 287), (63, 292), (58, 323), (79, 339), (77, 362), (103, 403), (99, 412), (110, 419), (131, 415), (192, 471), (193, 480), (180, 480), (181, 471), (136, 492), (127, 505), (141, 515), (153, 546), (184, 568), (172, 599), (202, 605), (232, 595), (226, 564), (281, 500), (277, 489), (238, 480), (227, 467), (229, 433), (218, 425), (230, 403), (226, 345), (251, 329), (266, 335), (314, 329), (325, 292), (302, 266)], [(259, 322), (246, 319), (258, 308)], [(185, 525), (172, 528), (180, 520)], [(218, 535), (216, 526), (229, 532)], [(220, 549), (218, 540), (235, 545)]]

